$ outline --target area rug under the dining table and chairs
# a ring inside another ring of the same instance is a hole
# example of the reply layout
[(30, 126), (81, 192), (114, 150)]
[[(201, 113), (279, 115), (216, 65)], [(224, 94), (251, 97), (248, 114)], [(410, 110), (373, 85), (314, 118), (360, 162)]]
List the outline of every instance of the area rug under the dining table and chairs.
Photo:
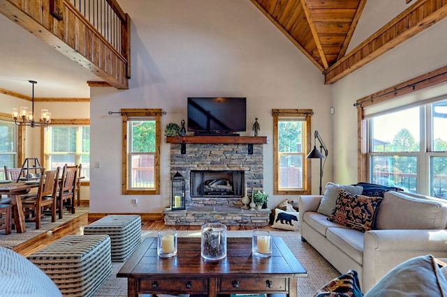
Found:
[(11, 232), (11, 234), (5, 235), (5, 231), (0, 231), (0, 246), (3, 248), (14, 248), (20, 243), (24, 243), (25, 241), (29, 241), (31, 238), (34, 238), (40, 234), (43, 234), (51, 229), (59, 227), (61, 224), (64, 224), (74, 218), (78, 218), (80, 215), (89, 212), (88, 206), (79, 206), (76, 207), (75, 213), (71, 213), (68, 211), (64, 211), (64, 216), (59, 220), (56, 216), (56, 222), (51, 222), (51, 217), (45, 215), (45, 217), (41, 221), (41, 229), (36, 230), (36, 223), (34, 222), (26, 222), (27, 231), (25, 233), (17, 233), (15, 230)]

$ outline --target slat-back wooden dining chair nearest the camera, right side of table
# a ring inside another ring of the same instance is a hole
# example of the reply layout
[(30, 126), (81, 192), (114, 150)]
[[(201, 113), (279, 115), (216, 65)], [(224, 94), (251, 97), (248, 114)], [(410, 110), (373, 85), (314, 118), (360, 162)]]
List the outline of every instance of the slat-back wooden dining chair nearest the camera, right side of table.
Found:
[(59, 183), (59, 170), (43, 170), (41, 179), (39, 181), (38, 189), (35, 195), (24, 195), (22, 199), (22, 206), (24, 209), (33, 210), (34, 218), (36, 220), (36, 229), (41, 228), (41, 215), (43, 208), (50, 208), (51, 222), (56, 220), (56, 195)]

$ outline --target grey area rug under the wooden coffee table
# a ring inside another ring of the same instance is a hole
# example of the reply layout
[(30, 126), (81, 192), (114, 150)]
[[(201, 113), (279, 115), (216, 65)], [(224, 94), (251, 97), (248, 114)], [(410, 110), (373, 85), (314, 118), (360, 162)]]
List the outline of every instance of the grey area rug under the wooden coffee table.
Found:
[[(157, 231), (142, 231), (142, 239), (156, 236)], [(321, 257), (309, 243), (303, 243), (295, 231), (272, 231), (273, 236), (281, 237), (295, 257), (305, 267), (308, 277), (298, 278), (298, 296), (313, 296), (324, 284), (339, 276), (340, 273), (328, 261)], [(179, 231), (179, 237), (200, 236), (199, 231)], [(250, 237), (250, 231), (228, 231), (228, 237)], [(112, 263), (112, 273), (99, 287), (93, 297), (127, 296), (127, 279), (116, 277), (123, 263)], [(149, 295), (142, 295), (147, 297)]]

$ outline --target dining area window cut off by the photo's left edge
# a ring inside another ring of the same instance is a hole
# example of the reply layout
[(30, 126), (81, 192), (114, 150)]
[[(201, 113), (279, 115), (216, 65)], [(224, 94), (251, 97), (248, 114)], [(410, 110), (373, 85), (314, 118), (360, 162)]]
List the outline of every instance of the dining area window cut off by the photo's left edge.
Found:
[(0, 180), (4, 180), (3, 166), (20, 167), (17, 160), (18, 126), (0, 119)]

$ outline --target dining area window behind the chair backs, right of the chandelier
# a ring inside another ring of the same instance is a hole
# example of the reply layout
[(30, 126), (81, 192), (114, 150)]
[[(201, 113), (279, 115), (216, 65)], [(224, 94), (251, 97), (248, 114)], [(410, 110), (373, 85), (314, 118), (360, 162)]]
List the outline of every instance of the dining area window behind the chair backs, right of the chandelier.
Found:
[(90, 127), (89, 125), (64, 125), (55, 123), (44, 129), (45, 170), (82, 165), (82, 182), (90, 180)]

